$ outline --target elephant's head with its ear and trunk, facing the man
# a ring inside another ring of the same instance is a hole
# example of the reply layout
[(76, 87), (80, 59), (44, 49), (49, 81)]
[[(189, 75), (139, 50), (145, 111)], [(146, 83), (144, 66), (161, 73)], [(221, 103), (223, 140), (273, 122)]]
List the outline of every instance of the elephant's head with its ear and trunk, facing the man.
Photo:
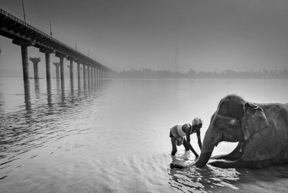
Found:
[(219, 142), (248, 140), (253, 133), (268, 126), (263, 109), (259, 106), (248, 103), (237, 95), (224, 97), (211, 117), (200, 157), (194, 165), (205, 166)]

